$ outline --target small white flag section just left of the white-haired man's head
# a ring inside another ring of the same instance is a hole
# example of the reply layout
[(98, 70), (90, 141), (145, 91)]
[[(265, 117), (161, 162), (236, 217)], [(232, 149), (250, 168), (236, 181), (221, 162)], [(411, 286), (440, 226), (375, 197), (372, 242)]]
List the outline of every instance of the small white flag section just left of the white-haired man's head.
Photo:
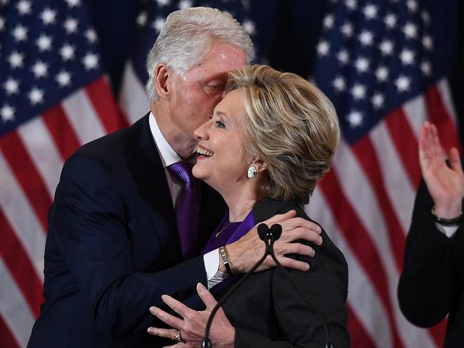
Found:
[(138, 79), (131, 61), (124, 68), (123, 83), (119, 93), (119, 105), (131, 123), (137, 121), (148, 111), (150, 102), (146, 96), (143, 83)]

